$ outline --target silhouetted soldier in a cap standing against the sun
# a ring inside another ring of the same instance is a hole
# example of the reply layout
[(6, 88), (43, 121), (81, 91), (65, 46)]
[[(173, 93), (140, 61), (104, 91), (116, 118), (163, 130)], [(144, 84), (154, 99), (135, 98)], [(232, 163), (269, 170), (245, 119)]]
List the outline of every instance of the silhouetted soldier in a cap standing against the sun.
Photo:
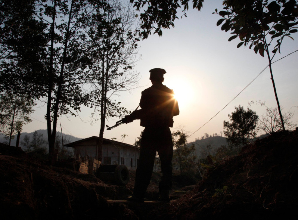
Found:
[(166, 71), (154, 68), (149, 72), (152, 86), (142, 92), (141, 109), (125, 117), (125, 123), (141, 119), (140, 125), (145, 127), (140, 144), (134, 192), (131, 197), (128, 197), (128, 200), (144, 202), (157, 151), (163, 174), (159, 182), (159, 200), (170, 201), (169, 190), (172, 188), (173, 158), (170, 127), (173, 127), (173, 116), (179, 114), (179, 107), (173, 90), (162, 84)]

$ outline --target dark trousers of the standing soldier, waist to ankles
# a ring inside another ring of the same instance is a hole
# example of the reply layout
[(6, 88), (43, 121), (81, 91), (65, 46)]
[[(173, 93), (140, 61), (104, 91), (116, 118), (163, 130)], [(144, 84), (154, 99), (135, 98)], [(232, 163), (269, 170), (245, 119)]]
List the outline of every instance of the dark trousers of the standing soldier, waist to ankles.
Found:
[(136, 169), (134, 196), (144, 198), (152, 176), (154, 160), (158, 152), (161, 161), (162, 178), (159, 192), (168, 193), (172, 188), (173, 142), (170, 128), (145, 127), (141, 145), (139, 164)]

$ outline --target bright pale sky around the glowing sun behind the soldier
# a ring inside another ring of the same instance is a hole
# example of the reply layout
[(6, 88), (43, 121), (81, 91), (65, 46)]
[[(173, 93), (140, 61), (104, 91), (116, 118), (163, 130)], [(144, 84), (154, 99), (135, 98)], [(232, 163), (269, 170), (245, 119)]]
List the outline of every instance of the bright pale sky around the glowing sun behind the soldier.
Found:
[[(149, 70), (156, 67), (164, 68), (167, 71), (164, 75), (164, 85), (174, 90), (180, 108), (180, 115), (174, 117), (174, 127), (171, 130), (176, 131), (179, 127), (184, 127), (189, 135), (192, 134), (188, 142), (201, 138), (204, 133), (220, 134), (224, 130), (224, 120), (229, 120), (228, 114), (235, 111), (235, 106), (241, 105), (246, 109), (250, 101), (265, 101), (268, 107), (276, 106), (269, 68), (226, 106), (268, 65), (268, 58), (263, 58), (243, 46), (237, 48), (237, 44), (240, 43), (238, 39), (228, 42), (232, 35), (216, 26), (221, 17), (212, 14), (215, 8), (221, 8), (221, 2), (222, 0), (205, 1), (201, 12), (190, 10), (187, 12), (187, 18), (175, 22), (175, 28), (163, 30), (162, 37), (154, 34), (140, 42), (139, 54), (142, 55), (142, 60), (134, 69), (140, 73), (140, 87), (131, 91), (131, 94), (124, 92), (119, 97), (123, 106), (133, 111), (139, 105), (142, 90), (151, 86)], [(298, 49), (298, 34), (291, 36), (295, 40), (285, 40), (282, 43), (281, 54), (277, 54), (274, 61)], [(272, 66), (280, 105), (285, 111), (295, 111), (292, 118), (295, 123), (298, 123), (297, 58), (298, 52)], [(224, 106), (226, 108), (217, 114)], [(266, 111), (264, 106), (259, 105), (249, 108), (259, 116)], [(91, 111), (83, 108), (80, 118), (60, 117), (57, 131), (60, 131), (61, 123), (63, 133), (79, 138), (98, 136), (100, 123), (90, 125)], [(46, 129), (45, 114), (45, 107), (36, 108), (32, 114), (32, 122), (24, 126), (23, 132)], [(215, 114), (217, 115), (204, 125)], [(120, 119), (109, 120), (106, 124), (112, 126), (118, 120)], [(121, 135), (125, 134), (124, 142), (134, 144), (143, 130), (139, 122), (135, 120), (105, 131), (104, 138), (117, 138), (117, 141), (122, 141)], [(199, 129), (202, 125), (204, 126)], [(196, 130), (198, 131), (195, 132)]]

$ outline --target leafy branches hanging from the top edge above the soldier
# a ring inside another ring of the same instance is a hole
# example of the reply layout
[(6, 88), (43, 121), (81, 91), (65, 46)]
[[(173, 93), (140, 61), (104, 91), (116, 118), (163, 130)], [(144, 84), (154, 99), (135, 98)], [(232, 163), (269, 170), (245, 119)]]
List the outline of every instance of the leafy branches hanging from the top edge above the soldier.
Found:
[[(174, 21), (178, 19), (177, 9), (183, 7), (183, 15), (186, 17), (186, 11), (189, 9), (189, 1), (185, 0), (130, 0), (134, 2), (137, 11), (147, 7), (143, 13), (140, 13), (141, 29), (143, 38), (148, 38), (152, 33), (162, 36), (162, 28), (169, 29), (174, 27)], [(193, 0), (193, 9), (201, 10), (204, 0)]]

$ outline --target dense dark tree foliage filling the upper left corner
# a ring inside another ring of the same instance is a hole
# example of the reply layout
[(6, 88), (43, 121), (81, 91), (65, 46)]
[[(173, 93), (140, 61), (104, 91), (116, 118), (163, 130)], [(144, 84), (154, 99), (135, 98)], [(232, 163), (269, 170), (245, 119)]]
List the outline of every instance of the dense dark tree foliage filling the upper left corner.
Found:
[(34, 0), (4, 0), (0, 9), (0, 90), (38, 98), (44, 88), (46, 36)]

